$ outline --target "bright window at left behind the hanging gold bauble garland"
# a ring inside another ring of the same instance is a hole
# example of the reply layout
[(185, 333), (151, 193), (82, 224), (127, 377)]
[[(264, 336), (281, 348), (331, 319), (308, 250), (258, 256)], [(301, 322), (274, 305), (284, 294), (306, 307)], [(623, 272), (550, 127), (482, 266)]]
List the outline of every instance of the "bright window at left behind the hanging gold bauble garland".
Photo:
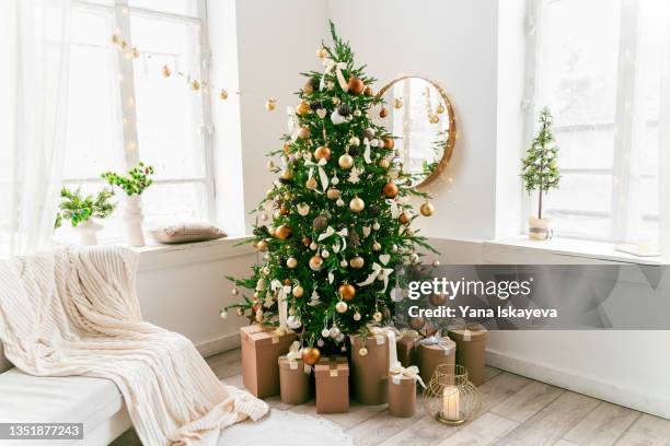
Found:
[[(141, 160), (157, 172), (142, 196), (148, 221), (207, 220), (213, 179), (204, 7), (116, 1), (73, 3), (63, 185), (96, 190), (102, 172), (125, 172)], [(128, 50), (112, 43), (114, 34)], [(105, 222), (103, 237), (122, 234), (122, 214)]]

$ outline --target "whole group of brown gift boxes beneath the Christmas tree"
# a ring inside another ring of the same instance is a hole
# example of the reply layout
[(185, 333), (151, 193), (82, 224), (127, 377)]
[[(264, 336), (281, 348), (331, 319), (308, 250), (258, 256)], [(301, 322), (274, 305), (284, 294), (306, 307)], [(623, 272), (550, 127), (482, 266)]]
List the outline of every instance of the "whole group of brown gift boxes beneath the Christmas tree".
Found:
[(303, 362), (294, 333), (261, 325), (240, 331), (244, 387), (258, 398), (280, 395), (287, 404), (304, 403), (315, 394), (316, 413), (348, 412), (351, 395), (362, 404), (389, 403), (393, 416), (413, 416), (417, 385), (428, 385), (441, 364), (461, 364), (474, 385), (484, 383), (487, 331), (481, 326), (429, 336), (372, 327), (350, 337), (349, 357), (321, 357), (313, 365)]

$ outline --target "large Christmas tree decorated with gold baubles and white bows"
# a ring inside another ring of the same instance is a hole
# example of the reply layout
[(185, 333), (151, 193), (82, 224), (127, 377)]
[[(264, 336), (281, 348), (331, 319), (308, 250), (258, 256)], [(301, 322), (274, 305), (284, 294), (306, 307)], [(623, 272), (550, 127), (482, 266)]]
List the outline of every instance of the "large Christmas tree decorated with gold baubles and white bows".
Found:
[(388, 322), (394, 268), (417, 263), (417, 247), (432, 250), (411, 227), (417, 215), (408, 200), (426, 198), (424, 215), (432, 206), (409, 187), (393, 136), (377, 124), (388, 109), (372, 92), (376, 80), (355, 67), (332, 22), (331, 35), (333, 46), (317, 51), (324, 72), (302, 73), (290, 133), (269, 153), (279, 177), (256, 209), (262, 224), (250, 240), (262, 261), (251, 278), (230, 278), (233, 294), (253, 291), (232, 306), (238, 314), (299, 332), (312, 351), (339, 350), (345, 334)]

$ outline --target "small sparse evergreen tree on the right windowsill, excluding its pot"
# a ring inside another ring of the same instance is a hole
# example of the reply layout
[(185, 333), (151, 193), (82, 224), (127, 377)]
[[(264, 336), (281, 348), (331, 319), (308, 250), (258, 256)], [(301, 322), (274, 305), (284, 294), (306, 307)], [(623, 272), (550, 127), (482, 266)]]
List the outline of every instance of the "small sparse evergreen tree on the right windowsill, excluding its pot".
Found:
[(552, 132), (553, 117), (548, 108), (540, 113), (540, 130), (521, 160), (521, 178), (525, 190), (540, 192), (539, 218), (542, 218), (542, 195), (550, 189), (557, 189), (561, 181), (558, 172), (558, 146)]

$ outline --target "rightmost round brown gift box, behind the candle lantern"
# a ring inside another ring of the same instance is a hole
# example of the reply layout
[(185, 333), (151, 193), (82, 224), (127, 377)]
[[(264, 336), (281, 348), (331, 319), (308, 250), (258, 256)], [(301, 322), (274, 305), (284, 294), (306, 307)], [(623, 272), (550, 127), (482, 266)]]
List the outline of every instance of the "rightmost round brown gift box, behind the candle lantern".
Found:
[(449, 336), (457, 343), (457, 363), (467, 369), (467, 377), (475, 386), (484, 384), (486, 339), (488, 331), (480, 324), (450, 326)]

